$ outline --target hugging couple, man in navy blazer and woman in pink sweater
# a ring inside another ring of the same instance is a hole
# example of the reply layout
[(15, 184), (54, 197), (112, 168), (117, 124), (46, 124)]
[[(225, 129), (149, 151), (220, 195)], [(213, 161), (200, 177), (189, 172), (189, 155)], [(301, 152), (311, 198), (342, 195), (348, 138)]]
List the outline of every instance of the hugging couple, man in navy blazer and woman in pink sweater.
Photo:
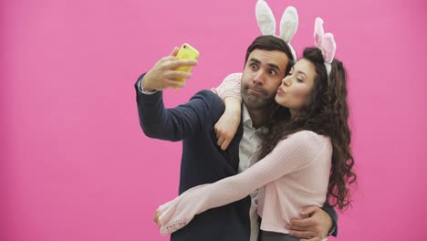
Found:
[[(321, 25), (317, 19), (316, 47), (297, 62), (281, 38), (255, 38), (241, 76), (173, 109), (164, 108), (161, 90), (182, 87), (175, 79), (191, 74), (175, 69), (196, 60), (176, 58), (175, 48), (138, 79), (144, 133), (182, 141), (180, 195), (154, 216), (161, 234), (176, 241), (336, 236), (333, 207), (349, 205), (356, 175), (346, 72)], [(224, 135), (234, 125), (235, 135)]]

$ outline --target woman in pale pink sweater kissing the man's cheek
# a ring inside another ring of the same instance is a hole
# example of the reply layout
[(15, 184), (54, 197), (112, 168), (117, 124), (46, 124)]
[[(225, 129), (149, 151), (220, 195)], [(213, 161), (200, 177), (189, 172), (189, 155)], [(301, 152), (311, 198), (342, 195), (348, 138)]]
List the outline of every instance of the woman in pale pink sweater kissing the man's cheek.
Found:
[(161, 205), (156, 221), (162, 234), (256, 189), (263, 241), (294, 240), (286, 235), (286, 225), (292, 218), (301, 218), (306, 206), (321, 206), (326, 200), (339, 209), (349, 205), (347, 184), (354, 183), (356, 175), (351, 171), (346, 74), (342, 63), (333, 58), (335, 49), (328, 49), (333, 37), (325, 36), (318, 36), (322, 49), (306, 48), (278, 88), (278, 106), (260, 161), (243, 173), (196, 186)]

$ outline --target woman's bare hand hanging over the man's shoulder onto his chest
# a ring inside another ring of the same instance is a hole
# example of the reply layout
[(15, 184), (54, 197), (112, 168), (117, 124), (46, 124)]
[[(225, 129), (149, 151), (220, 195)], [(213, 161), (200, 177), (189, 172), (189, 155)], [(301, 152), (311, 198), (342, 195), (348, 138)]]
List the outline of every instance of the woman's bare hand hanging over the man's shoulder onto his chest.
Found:
[(224, 114), (214, 125), (216, 138), (218, 139), (217, 144), (223, 151), (228, 148), (228, 145), (233, 140), (242, 118), (242, 105), (240, 100), (227, 97), (224, 99), (224, 103)]

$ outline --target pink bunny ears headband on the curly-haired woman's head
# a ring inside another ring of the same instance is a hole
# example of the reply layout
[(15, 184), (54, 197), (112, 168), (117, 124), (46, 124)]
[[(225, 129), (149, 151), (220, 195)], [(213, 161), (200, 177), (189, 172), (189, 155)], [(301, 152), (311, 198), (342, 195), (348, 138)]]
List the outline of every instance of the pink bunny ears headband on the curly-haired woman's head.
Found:
[(331, 33), (326, 33), (323, 30), (323, 20), (317, 17), (315, 20), (315, 46), (322, 51), (323, 58), (325, 59), (325, 67), (328, 71), (328, 76), (331, 70), (331, 63), (334, 60), (337, 45), (335, 44), (334, 36)]

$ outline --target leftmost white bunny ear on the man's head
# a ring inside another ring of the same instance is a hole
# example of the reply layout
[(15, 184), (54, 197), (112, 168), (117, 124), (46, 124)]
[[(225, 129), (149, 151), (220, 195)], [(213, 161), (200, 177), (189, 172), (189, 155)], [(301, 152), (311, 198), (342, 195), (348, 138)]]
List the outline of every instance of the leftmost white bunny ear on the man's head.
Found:
[(266, 1), (258, 0), (255, 6), (255, 16), (263, 35), (274, 36), (276, 33), (276, 20)]

